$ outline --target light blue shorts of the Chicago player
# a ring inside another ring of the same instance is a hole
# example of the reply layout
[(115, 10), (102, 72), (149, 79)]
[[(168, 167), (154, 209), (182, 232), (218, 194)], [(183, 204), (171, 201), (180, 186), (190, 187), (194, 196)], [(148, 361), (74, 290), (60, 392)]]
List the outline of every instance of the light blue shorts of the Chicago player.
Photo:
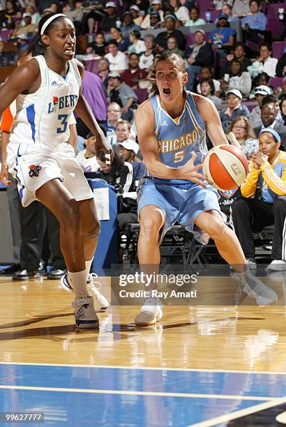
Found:
[(176, 223), (184, 225), (193, 232), (195, 239), (207, 244), (209, 236), (195, 225), (197, 216), (205, 211), (218, 211), (218, 192), (211, 186), (202, 188), (196, 183), (179, 185), (164, 184), (153, 178), (142, 179), (138, 188), (138, 216), (143, 207), (154, 204), (165, 213), (165, 224), (160, 241), (164, 234)]

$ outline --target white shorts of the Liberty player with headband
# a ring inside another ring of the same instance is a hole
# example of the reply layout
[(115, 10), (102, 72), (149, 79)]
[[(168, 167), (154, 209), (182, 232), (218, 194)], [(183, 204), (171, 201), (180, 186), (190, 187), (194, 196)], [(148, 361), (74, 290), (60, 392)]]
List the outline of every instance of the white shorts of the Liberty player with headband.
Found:
[(36, 190), (51, 179), (59, 178), (75, 200), (92, 199), (93, 192), (75, 158), (73, 147), (64, 142), (57, 151), (45, 152), (27, 144), (8, 144), (9, 172), (17, 179), (22, 205), (37, 200)]

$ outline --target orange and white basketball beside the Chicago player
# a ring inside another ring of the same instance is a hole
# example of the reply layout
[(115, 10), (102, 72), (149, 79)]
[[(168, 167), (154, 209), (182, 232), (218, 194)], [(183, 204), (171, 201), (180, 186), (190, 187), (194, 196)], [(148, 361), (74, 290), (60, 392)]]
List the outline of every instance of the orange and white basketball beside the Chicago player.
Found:
[(248, 160), (233, 145), (217, 145), (204, 159), (206, 181), (217, 190), (234, 190), (241, 186), (248, 174)]

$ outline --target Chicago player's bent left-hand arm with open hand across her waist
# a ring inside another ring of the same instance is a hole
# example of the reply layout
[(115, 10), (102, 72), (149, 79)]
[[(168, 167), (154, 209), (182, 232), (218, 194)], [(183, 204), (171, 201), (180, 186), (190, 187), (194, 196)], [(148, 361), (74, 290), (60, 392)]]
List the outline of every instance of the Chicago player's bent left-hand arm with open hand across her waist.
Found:
[(204, 177), (197, 172), (202, 165), (193, 165), (195, 157), (192, 157), (182, 167), (170, 167), (160, 161), (158, 140), (155, 133), (155, 115), (149, 100), (138, 107), (135, 113), (135, 124), (143, 161), (153, 177), (189, 179), (200, 186), (205, 186)]

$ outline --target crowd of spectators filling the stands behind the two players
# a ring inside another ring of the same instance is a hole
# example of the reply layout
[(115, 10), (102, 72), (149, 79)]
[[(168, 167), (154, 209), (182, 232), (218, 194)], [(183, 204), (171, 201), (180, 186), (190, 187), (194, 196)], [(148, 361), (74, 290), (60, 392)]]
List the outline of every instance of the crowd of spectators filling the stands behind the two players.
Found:
[[(119, 195), (132, 194), (144, 174), (134, 112), (140, 94), (148, 97), (156, 61), (165, 52), (185, 59), (186, 89), (213, 101), (229, 143), (248, 159), (266, 127), (276, 130), (284, 149), (286, 3), (280, 4), (283, 11), (274, 14), (271, 1), (259, 0), (1, 0), (0, 66), (15, 65), (41, 16), (63, 12), (70, 17), (86, 42), (77, 52), (86, 66), (84, 96), (116, 152), (112, 166), (96, 158), (95, 139), (77, 119), (77, 158), (86, 174), (112, 183)], [(281, 27), (275, 36), (269, 26), (273, 20)], [(11, 42), (17, 49), (8, 49)], [(93, 72), (90, 61), (96, 63)], [(133, 195), (129, 202), (121, 199), (120, 230), (136, 220)]]

